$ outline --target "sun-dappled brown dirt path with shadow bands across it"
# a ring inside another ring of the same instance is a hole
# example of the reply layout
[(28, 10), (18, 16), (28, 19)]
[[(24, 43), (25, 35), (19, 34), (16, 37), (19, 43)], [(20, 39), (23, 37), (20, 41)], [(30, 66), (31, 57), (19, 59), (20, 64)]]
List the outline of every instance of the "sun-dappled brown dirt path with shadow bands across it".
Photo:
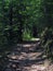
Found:
[(8, 54), (9, 62), (4, 71), (53, 71), (53, 64), (50, 64), (39, 44), (17, 44)]

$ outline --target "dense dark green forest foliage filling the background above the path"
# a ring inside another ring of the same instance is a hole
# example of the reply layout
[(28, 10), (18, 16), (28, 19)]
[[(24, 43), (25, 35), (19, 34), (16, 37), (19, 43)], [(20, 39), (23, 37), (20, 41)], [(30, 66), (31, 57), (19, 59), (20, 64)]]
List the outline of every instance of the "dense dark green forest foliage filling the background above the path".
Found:
[(37, 27), (39, 37), (44, 29), (41, 43), (48, 47), (53, 31), (52, 0), (0, 0), (0, 48), (31, 39), (32, 26)]

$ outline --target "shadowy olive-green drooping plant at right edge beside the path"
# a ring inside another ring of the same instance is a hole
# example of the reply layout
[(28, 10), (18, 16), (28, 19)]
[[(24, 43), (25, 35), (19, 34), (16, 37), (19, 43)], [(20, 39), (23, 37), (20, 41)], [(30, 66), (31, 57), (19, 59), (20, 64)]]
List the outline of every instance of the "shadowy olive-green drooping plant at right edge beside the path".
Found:
[(41, 34), (41, 47), (44, 48), (48, 58), (53, 58), (53, 33), (51, 28), (47, 27)]

